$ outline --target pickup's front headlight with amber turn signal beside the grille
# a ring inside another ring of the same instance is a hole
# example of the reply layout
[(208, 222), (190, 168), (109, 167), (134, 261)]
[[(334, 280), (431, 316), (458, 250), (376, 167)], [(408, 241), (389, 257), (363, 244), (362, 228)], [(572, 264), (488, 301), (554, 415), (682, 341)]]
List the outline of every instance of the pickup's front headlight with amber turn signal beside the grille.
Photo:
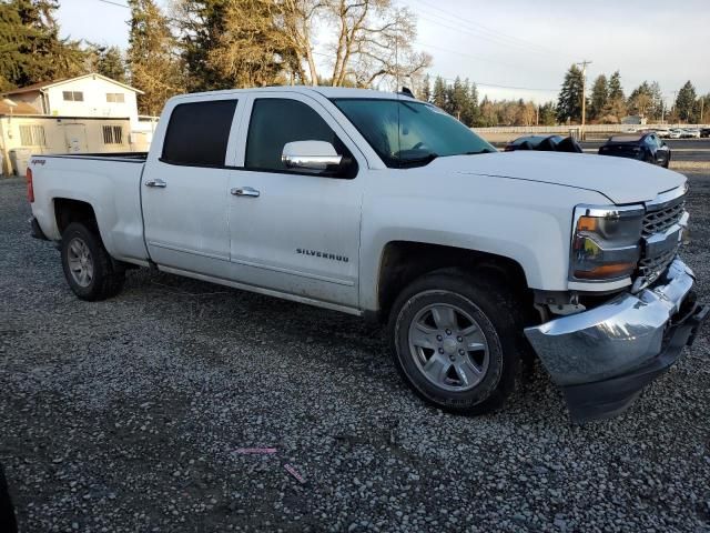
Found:
[(640, 205), (575, 208), (571, 279), (612, 281), (630, 275), (640, 257), (645, 212)]

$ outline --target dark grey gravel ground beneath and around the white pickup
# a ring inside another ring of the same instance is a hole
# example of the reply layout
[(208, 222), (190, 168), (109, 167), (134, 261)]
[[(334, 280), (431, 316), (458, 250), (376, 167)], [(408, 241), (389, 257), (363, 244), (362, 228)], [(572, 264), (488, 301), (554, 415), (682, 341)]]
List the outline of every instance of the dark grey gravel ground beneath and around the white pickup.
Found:
[(539, 370), (503, 412), (454, 416), (351, 316), (148, 271), (81, 302), (28, 217), (0, 182), (0, 462), (26, 532), (710, 531), (709, 332), (610, 421), (571, 425)]

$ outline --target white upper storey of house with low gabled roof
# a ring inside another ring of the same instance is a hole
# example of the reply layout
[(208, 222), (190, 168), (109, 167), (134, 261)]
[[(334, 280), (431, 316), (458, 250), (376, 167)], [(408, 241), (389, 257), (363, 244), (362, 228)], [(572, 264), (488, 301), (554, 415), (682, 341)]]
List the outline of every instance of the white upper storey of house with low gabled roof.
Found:
[(6, 92), (16, 102), (24, 102), (40, 114), (52, 117), (91, 117), (129, 119), (131, 128), (139, 127), (136, 94), (143, 91), (105, 76), (91, 73), (34, 83)]

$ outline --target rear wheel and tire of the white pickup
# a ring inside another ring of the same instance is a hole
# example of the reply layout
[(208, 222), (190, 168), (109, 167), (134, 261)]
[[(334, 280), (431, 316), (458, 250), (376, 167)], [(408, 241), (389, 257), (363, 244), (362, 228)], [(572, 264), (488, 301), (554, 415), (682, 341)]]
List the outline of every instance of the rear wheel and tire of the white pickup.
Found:
[(125, 271), (116, 268), (95, 227), (69, 224), (62, 233), (61, 255), (67, 283), (79, 299), (93, 302), (121, 292)]

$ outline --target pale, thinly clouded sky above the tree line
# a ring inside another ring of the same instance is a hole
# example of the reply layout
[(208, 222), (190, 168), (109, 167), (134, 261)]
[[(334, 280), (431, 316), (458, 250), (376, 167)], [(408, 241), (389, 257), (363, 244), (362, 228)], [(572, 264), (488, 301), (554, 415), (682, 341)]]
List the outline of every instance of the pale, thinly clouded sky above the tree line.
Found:
[[(128, 46), (125, 0), (61, 0), (64, 37)], [(168, 0), (159, 1), (166, 6)], [(589, 83), (621, 73), (628, 93), (658, 81), (668, 101), (691, 80), (710, 92), (710, 0), (396, 0), (417, 18), (432, 76), (478, 84), (480, 97), (556, 100), (565, 71), (589, 60)]]

